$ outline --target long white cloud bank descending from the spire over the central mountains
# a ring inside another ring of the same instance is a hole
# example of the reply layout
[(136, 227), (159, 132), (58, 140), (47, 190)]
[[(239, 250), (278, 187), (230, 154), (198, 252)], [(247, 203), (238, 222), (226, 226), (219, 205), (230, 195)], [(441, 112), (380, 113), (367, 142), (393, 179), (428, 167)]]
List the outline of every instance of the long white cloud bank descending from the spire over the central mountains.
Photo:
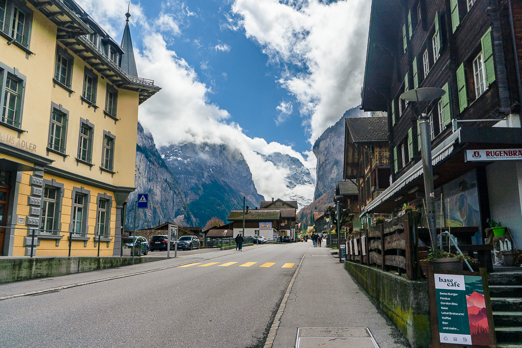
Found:
[[(89, 8), (89, 13), (96, 21), (103, 20), (107, 25), (117, 23), (122, 8), (123, 13), (127, 10), (126, 3), (120, 0), (114, 0), (118, 6), (110, 9), (105, 6), (107, 2), (104, 0), (78, 2), (86, 10)], [(135, 47), (134, 51), (139, 75), (153, 79), (162, 88), (139, 107), (139, 121), (144, 128), (150, 130), (157, 146), (184, 141), (225, 143), (242, 152), (259, 194), (282, 199), (298, 195), (305, 199), (313, 197), (313, 185), (299, 185), (295, 190), (288, 189), (284, 179), (288, 170), (265, 162), (256, 151), (263, 154), (287, 153), (298, 158), (315, 175), (313, 153), (306, 153), (303, 157), (290, 146), (246, 136), (238, 124), (228, 121), (230, 115), (226, 110), (209, 102), (207, 94), (211, 92), (210, 88), (199, 80), (192, 66), (167, 48), (164, 33), (160, 33), (161, 28), (149, 25), (148, 19), (141, 15), (141, 8), (136, 7), (136, 13), (139, 14), (136, 17), (141, 30), (133, 34), (137, 35), (139, 32), (144, 45), (143, 49), (138, 50)], [(194, 43), (198, 44), (196, 41)], [(201, 68), (205, 67), (208, 67), (207, 63), (202, 62)], [(223, 76), (226, 78), (226, 74)]]

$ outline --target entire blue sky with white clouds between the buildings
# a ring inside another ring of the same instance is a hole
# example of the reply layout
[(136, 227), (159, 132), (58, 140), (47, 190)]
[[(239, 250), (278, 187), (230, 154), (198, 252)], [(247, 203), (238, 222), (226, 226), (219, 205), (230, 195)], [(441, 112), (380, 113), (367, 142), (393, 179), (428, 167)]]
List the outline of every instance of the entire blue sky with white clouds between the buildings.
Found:
[[(125, 0), (77, 0), (116, 41)], [(315, 175), (315, 139), (360, 103), (370, 1), (178, 0), (131, 3), (138, 74), (162, 90), (140, 106), (158, 146), (226, 143), (241, 151), (265, 197), (288, 169), (256, 152), (287, 153)]]

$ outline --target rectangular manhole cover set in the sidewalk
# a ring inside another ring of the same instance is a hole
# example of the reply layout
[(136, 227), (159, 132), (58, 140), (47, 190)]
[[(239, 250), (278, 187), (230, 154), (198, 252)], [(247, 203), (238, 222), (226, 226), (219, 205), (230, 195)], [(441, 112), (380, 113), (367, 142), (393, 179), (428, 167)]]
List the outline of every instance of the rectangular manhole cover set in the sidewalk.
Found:
[(378, 348), (368, 328), (298, 328), (295, 348)]

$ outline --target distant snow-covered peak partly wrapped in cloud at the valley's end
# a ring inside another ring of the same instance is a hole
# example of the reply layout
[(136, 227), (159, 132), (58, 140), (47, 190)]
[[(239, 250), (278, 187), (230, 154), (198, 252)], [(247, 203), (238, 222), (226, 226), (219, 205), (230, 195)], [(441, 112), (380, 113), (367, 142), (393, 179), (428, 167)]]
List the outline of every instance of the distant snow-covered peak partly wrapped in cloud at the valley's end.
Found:
[(302, 193), (309, 192), (311, 194), (311, 190), (315, 184), (314, 178), (298, 158), (280, 152), (272, 152), (268, 155), (259, 152), (256, 153), (260, 155), (265, 162), (272, 162), (276, 167), (288, 171), (284, 179), (287, 183), (286, 186), (290, 200), (296, 200), (299, 207), (307, 206), (312, 202), (310, 197), (305, 197)]

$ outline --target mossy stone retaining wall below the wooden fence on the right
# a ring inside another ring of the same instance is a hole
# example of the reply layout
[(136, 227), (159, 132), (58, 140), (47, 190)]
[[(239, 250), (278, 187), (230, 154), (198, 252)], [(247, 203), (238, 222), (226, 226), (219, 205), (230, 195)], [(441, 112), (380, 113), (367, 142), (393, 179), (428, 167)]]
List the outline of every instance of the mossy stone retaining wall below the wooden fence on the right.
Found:
[(370, 294), (412, 348), (431, 342), (428, 282), (411, 281), (392, 272), (345, 261), (345, 269)]

